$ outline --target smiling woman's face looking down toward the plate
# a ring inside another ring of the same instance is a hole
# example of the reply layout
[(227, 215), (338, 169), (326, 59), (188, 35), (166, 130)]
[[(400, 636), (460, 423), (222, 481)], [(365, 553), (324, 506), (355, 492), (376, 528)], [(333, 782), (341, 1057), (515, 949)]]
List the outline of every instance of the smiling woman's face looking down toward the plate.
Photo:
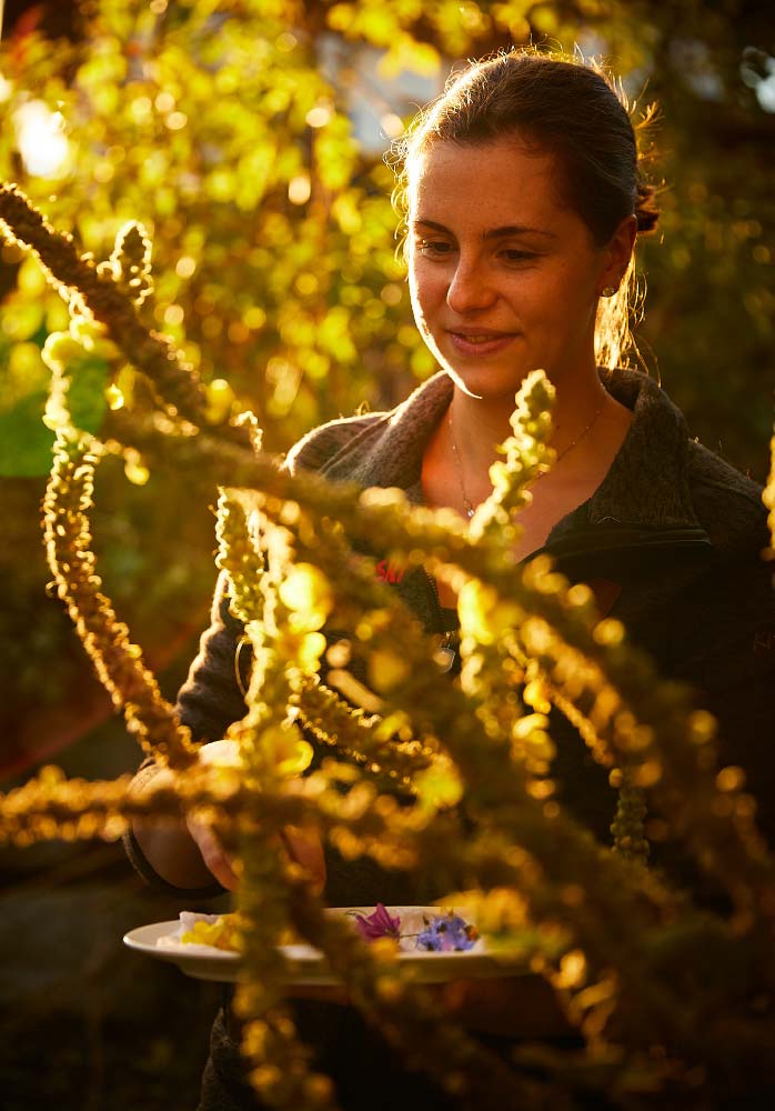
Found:
[(561, 203), (561, 172), (553, 154), (519, 137), (436, 142), (412, 168), (414, 318), (466, 393), (513, 404), (531, 370), (555, 384), (594, 373), (597, 299), (618, 284), (626, 259), (620, 268)]

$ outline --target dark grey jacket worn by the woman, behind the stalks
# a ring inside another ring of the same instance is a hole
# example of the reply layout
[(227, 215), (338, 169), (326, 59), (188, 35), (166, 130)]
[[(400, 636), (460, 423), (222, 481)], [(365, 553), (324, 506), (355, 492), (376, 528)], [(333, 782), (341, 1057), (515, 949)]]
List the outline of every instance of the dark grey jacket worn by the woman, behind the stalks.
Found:
[[(722, 763), (746, 770), (775, 843), (775, 591), (761, 558), (768, 543), (761, 487), (690, 439), (682, 413), (647, 376), (615, 371), (605, 384), (633, 410), (630, 431), (600, 488), (555, 526), (543, 551), (568, 578), (593, 587), (600, 608), (624, 622), (665, 678), (697, 689), (698, 703), (721, 723)], [(423, 451), (451, 391), (440, 373), (392, 412), (324, 424), (293, 448), (286, 466), (363, 487), (401, 487), (419, 503)], [(389, 578), (392, 569), (383, 568)], [(393, 589), (426, 629), (441, 630), (427, 575), (394, 578)], [(203, 740), (222, 737), (244, 713), (234, 669), (242, 630), (223, 590), (221, 580), (179, 697), (183, 721)], [(614, 807), (606, 775), (564, 719), (554, 724), (558, 797), (606, 839)]]

